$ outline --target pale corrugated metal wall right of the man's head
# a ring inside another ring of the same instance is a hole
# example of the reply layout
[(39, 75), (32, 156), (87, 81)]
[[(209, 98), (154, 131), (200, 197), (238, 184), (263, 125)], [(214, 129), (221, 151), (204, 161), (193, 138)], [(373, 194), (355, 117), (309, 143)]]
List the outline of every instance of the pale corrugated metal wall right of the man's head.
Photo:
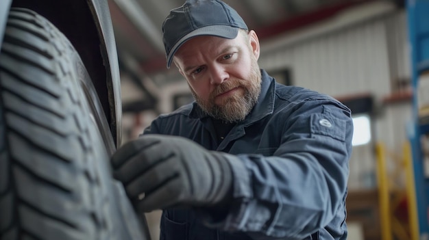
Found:
[(398, 18), (402, 18), (402, 13), (293, 42), (283, 49), (261, 54), (260, 66), (268, 71), (289, 69), (293, 85), (332, 96), (367, 92), (386, 96), (392, 90), (389, 57), (393, 53), (388, 49), (393, 43), (399, 50), (394, 55), (395, 74), (406, 75), (404, 38), (391, 38), (392, 34), (401, 36), (400, 32), (404, 32), (404, 21)]

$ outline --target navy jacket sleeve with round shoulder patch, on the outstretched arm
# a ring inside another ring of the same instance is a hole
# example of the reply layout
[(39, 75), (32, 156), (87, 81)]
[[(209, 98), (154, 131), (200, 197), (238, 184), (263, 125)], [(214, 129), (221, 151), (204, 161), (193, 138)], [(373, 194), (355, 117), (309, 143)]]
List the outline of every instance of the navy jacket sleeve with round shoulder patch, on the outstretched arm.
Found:
[(230, 158), (234, 202), (222, 222), (208, 226), (247, 232), (254, 239), (304, 239), (343, 209), (352, 151), (350, 110), (319, 100), (294, 109), (279, 124), (281, 144), (271, 157)]

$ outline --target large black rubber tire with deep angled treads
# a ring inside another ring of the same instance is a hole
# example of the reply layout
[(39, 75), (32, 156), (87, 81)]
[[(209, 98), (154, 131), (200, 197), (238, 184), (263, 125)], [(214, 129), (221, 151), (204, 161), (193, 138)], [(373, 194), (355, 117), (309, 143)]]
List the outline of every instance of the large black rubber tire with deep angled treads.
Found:
[(110, 174), (79, 66), (49, 21), (10, 11), (0, 53), (1, 240), (147, 239)]

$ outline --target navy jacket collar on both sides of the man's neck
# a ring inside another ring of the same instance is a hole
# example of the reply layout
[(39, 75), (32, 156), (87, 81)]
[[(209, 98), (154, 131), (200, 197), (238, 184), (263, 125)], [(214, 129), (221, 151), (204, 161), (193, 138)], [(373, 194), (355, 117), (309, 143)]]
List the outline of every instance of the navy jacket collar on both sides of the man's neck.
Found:
[[(275, 81), (270, 77), (267, 72), (263, 69), (260, 70), (262, 83), (260, 88), (260, 94), (258, 96), (258, 102), (250, 111), (249, 115), (241, 122), (245, 126), (265, 118), (265, 116), (272, 114), (274, 109), (274, 96), (275, 96)], [(209, 116), (197, 105), (193, 103), (191, 112), (189, 113), (191, 118), (208, 118)]]

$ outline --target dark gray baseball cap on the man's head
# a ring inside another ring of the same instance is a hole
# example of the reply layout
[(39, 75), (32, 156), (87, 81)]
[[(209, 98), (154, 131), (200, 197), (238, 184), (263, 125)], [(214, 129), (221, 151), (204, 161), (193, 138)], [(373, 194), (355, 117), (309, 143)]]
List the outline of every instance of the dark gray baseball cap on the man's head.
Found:
[(247, 25), (228, 4), (219, 0), (186, 0), (170, 11), (162, 24), (162, 34), (170, 68), (173, 55), (184, 42), (196, 36), (217, 36), (234, 39), (238, 29)]

